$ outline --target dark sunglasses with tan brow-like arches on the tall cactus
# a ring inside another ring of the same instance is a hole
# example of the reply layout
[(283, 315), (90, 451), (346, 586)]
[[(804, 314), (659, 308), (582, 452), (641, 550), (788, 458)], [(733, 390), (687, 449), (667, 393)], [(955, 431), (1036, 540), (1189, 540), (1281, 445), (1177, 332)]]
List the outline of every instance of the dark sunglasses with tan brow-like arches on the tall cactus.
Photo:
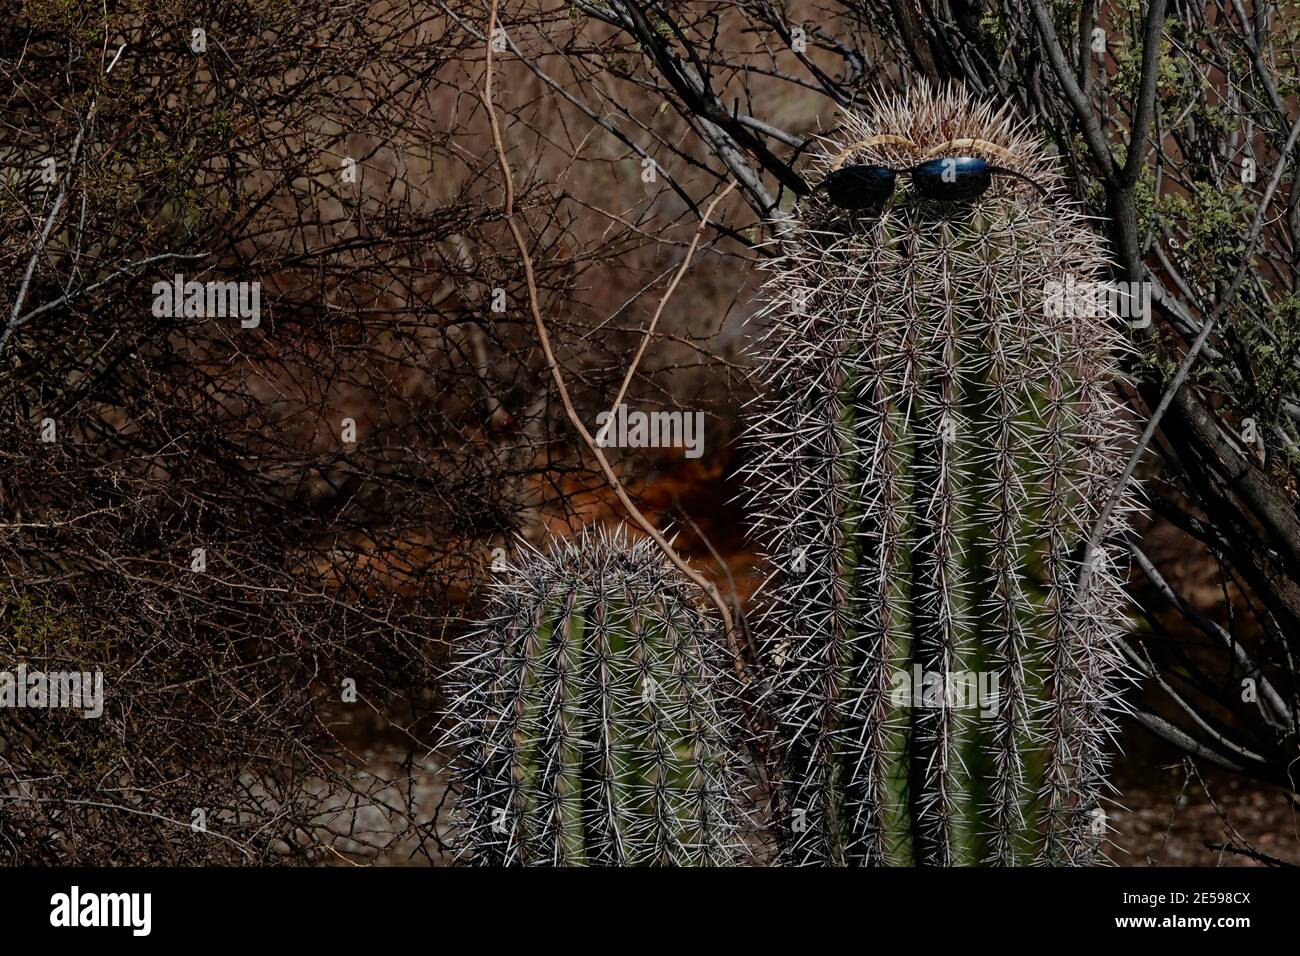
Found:
[[(816, 189), (826, 190), (832, 204), (852, 211), (875, 209), (883, 206), (894, 194), (898, 177), (904, 174), (910, 177), (911, 189), (918, 196), (937, 202), (963, 203), (978, 199), (988, 191), (994, 176), (1011, 176), (1023, 179), (1043, 195), (1048, 194), (1046, 189), (1023, 173), (994, 165), (976, 156), (936, 156), (909, 169), (893, 169), (872, 163), (841, 165), (849, 153), (878, 143), (898, 143), (910, 146), (913, 150), (916, 148), (902, 137), (881, 135), (854, 143), (840, 153), (831, 172)], [(970, 146), (983, 147), (994, 155), (1011, 157), (1009, 151), (982, 139), (954, 139), (931, 150), (931, 153)]]

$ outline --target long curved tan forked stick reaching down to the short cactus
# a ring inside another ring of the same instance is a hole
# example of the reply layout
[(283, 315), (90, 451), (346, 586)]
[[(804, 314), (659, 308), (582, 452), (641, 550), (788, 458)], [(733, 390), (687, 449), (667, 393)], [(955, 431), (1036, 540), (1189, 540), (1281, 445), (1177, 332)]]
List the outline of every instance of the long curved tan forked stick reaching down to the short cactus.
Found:
[[(489, 38), (491, 38), (497, 33), (497, 1), (498, 0), (491, 0), (491, 9), (488, 14)], [(619, 476), (614, 473), (614, 468), (610, 466), (610, 460), (604, 457), (604, 453), (601, 451), (601, 446), (592, 437), (592, 433), (586, 429), (586, 425), (582, 424), (582, 419), (578, 418), (577, 410), (573, 407), (573, 401), (569, 398), (568, 388), (566, 388), (564, 385), (564, 376), (560, 373), (559, 363), (555, 360), (555, 351), (551, 349), (551, 337), (546, 330), (546, 321), (542, 319), (542, 310), (537, 300), (537, 281), (533, 273), (533, 259), (528, 252), (528, 242), (524, 239), (524, 234), (523, 232), (520, 232), (519, 224), (515, 222), (515, 182), (510, 168), (510, 160), (506, 156), (506, 146), (500, 138), (500, 126), (497, 122), (497, 108), (493, 105), (491, 100), (493, 51), (490, 40), (488, 43), (486, 49), (488, 49), (488, 60), (484, 75), (484, 88), (480, 92), (478, 98), (482, 100), (484, 107), (488, 109), (488, 120), (489, 124), (491, 125), (493, 146), (497, 151), (497, 164), (500, 166), (502, 185), (506, 190), (506, 204), (502, 209), (502, 216), (506, 220), (506, 225), (510, 226), (510, 233), (515, 239), (515, 246), (516, 248), (519, 248), (519, 256), (524, 264), (524, 280), (528, 285), (528, 308), (529, 312), (532, 312), (533, 324), (537, 326), (537, 338), (541, 342), (542, 354), (546, 356), (546, 367), (551, 372), (551, 378), (555, 380), (555, 388), (560, 394), (560, 402), (564, 405), (564, 414), (568, 416), (569, 423), (573, 425), (575, 431), (582, 437), (582, 441), (586, 444), (588, 450), (590, 450), (592, 455), (601, 466), (601, 472), (604, 475), (604, 480), (608, 481), (610, 488), (614, 489), (614, 493), (618, 496), (619, 502), (623, 505), (624, 509), (627, 509), (627, 512), (632, 518), (632, 520), (636, 522), (641, 527), (641, 529), (659, 546), (659, 550), (664, 553), (668, 561), (671, 561), (679, 571), (686, 575), (686, 578), (689, 578), (701, 591), (705, 592), (705, 594), (708, 596), (708, 600), (718, 609), (718, 613), (722, 615), (723, 619), (723, 627), (727, 631), (727, 643), (728, 645), (731, 645), (732, 658), (736, 666), (736, 674), (742, 683), (748, 684), (749, 675), (745, 672), (745, 663), (740, 654), (740, 645), (736, 641), (736, 627), (734, 623), (732, 622), (731, 609), (728, 609), (727, 602), (723, 601), (722, 593), (719, 593), (718, 588), (710, 580), (707, 580), (703, 575), (701, 575), (698, 571), (686, 564), (686, 562), (682, 561), (681, 555), (677, 554), (673, 546), (668, 544), (668, 541), (663, 537), (663, 535), (660, 535), (659, 531), (649, 522), (649, 519), (644, 514), (641, 514), (641, 510), (632, 502), (632, 498), (628, 497), (627, 490), (624, 490), (623, 483), (619, 481)], [(729, 189), (731, 186), (728, 186), (728, 190)], [(708, 222), (710, 212), (712, 212), (714, 206), (718, 204), (718, 202), (723, 198), (723, 195), (725, 195), (725, 193), (719, 195), (708, 207), (708, 212), (706, 212), (703, 219), (701, 220), (701, 229), (703, 228), (705, 224)], [(696, 242), (698, 242), (698, 239), (699, 235), (697, 232)], [(696, 242), (692, 242), (692, 250), (694, 248)], [(686, 261), (689, 263), (689, 255)], [(685, 265), (686, 263), (682, 263), (682, 269), (685, 269)], [(680, 274), (681, 271), (679, 271), (677, 274), (679, 278)], [(673, 280), (673, 286), (676, 286), (676, 278)], [(664, 295), (664, 300), (667, 300), (667, 298), (668, 297)], [(662, 310), (663, 310), (663, 302), (659, 303), (659, 311)], [(658, 312), (655, 313), (655, 317), (658, 319)], [(637, 358), (640, 358), (640, 352)], [(629, 378), (630, 375), (632, 371), (629, 369), (628, 372)]]

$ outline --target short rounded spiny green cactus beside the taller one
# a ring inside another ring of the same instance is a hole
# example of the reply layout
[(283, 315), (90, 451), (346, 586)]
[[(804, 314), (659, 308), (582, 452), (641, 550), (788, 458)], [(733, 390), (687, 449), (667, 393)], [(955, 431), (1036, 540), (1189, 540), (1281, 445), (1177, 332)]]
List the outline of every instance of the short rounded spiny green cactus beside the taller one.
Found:
[(494, 587), (456, 667), (459, 849), (486, 865), (737, 858), (719, 624), (651, 541), (584, 532)]

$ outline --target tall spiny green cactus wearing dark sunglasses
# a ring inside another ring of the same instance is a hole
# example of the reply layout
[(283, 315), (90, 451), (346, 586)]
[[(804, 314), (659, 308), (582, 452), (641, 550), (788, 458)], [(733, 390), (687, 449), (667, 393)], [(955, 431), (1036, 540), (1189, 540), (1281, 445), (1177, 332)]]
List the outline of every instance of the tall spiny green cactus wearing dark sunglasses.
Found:
[(784, 858), (1093, 861), (1127, 492), (1082, 558), (1132, 429), (1123, 330), (1053, 284), (1101, 250), (1006, 112), (919, 90), (844, 126), (779, 239), (746, 467)]

